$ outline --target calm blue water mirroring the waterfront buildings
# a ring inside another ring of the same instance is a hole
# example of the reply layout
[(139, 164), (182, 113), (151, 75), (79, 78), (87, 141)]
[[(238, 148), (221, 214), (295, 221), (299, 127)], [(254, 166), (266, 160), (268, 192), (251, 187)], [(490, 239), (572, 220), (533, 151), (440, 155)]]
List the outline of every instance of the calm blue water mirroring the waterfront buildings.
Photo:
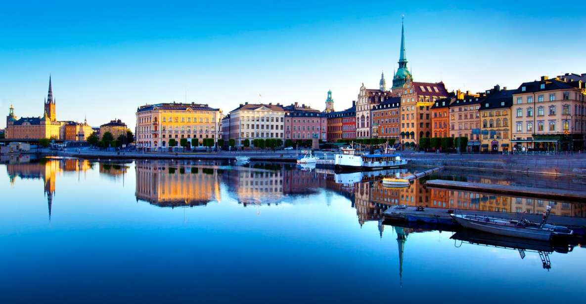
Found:
[(479, 236), (379, 222), (398, 204), (532, 213), (554, 205), (558, 215), (584, 217), (581, 203), (420, 182), (388, 189), (380, 177), (282, 164), (3, 161), (2, 303), (551, 303), (586, 295), (579, 245), (551, 253), (548, 271), (536, 251), (522, 259), (514, 248), (465, 241)]

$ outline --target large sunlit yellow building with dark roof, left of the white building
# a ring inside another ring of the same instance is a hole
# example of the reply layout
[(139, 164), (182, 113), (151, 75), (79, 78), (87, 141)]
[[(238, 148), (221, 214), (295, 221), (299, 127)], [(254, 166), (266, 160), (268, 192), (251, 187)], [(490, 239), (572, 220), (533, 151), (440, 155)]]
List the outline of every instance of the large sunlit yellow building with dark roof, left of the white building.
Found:
[(170, 139), (177, 145), (183, 138), (216, 139), (220, 136), (222, 110), (198, 103), (157, 103), (139, 106), (136, 112), (135, 142), (137, 148), (146, 151), (166, 150)]

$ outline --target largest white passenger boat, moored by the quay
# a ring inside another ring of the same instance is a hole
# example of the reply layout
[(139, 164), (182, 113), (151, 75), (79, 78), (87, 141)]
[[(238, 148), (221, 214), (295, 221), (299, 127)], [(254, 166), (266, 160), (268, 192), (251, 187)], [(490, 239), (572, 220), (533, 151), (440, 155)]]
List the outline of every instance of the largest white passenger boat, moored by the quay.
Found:
[(339, 170), (380, 170), (398, 168), (407, 164), (400, 154), (394, 154), (394, 149), (386, 149), (384, 154), (364, 154), (357, 152), (354, 148), (340, 150), (341, 153), (334, 156), (334, 165)]

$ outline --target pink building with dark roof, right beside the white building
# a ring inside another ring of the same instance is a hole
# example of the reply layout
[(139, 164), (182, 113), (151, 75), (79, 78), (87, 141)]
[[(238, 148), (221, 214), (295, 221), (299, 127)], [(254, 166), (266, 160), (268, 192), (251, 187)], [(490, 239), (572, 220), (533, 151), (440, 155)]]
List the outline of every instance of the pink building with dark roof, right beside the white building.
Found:
[[(285, 140), (320, 139), (326, 141), (328, 116), (326, 113), (312, 109), (309, 106), (292, 105), (284, 106), (285, 110)], [(274, 138), (274, 137), (273, 137)], [(281, 138), (282, 137), (278, 137)]]

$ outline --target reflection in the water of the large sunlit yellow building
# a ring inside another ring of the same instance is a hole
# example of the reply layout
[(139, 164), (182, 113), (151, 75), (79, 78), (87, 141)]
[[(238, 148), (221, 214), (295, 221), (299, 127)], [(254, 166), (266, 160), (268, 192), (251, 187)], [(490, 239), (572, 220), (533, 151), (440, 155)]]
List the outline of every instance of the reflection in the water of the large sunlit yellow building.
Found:
[(136, 161), (137, 200), (161, 207), (199, 206), (220, 202), (220, 175), (213, 165), (192, 161)]

